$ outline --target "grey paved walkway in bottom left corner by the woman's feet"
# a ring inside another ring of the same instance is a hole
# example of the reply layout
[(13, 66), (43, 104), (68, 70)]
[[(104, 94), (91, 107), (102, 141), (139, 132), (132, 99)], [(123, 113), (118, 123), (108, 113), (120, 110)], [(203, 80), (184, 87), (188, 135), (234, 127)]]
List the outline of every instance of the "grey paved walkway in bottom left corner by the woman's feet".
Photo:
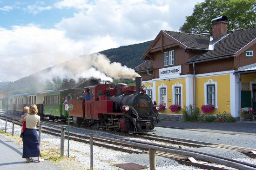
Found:
[(0, 170), (61, 170), (47, 160), (38, 163), (37, 157), (33, 158), (34, 162), (26, 163), (22, 158), (22, 146), (0, 134)]

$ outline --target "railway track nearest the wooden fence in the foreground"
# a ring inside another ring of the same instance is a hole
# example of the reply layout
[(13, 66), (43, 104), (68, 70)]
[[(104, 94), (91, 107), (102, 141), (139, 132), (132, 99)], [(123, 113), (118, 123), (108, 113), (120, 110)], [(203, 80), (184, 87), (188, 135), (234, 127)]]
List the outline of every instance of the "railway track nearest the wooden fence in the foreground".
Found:
[[(51, 135), (54, 135), (54, 136), (61, 136), (61, 134), (60, 134), (61, 131), (59, 131), (59, 130), (48, 128), (48, 127), (42, 127), (42, 128), (45, 129), (45, 130), (42, 130), (42, 132), (44, 132), (44, 133), (48, 133), (48, 134), (51, 134)], [(58, 132), (58, 134), (56, 134), (56, 132)], [(65, 132), (65, 134), (67, 134), (67, 132)], [(74, 133), (69, 133), (69, 135), (70, 135), (69, 139), (71, 139), (71, 140), (75, 140), (75, 141), (79, 141), (79, 142), (83, 142), (83, 143), (87, 143), (87, 144), (90, 143), (90, 137), (89, 136), (84, 136), (84, 135), (79, 135), (79, 134), (74, 134)], [(65, 138), (67, 138), (67, 136), (65, 136)], [(130, 142), (140, 143), (140, 144), (148, 144), (147, 142), (141, 142), (141, 141), (137, 141), (137, 140), (136, 141), (129, 140), (129, 139), (125, 139), (125, 140), (130, 141)], [(135, 146), (135, 145), (132, 145), (132, 144), (124, 144), (124, 143), (120, 143), (120, 142), (115, 142), (115, 141), (110, 141), (110, 140), (95, 138), (95, 137), (94, 137), (94, 141), (97, 141), (97, 142), (94, 142), (94, 145), (109, 148), (109, 149), (113, 149), (113, 150), (119, 150), (119, 151), (128, 152), (128, 153), (147, 153), (147, 154), (149, 154), (148, 150), (144, 150), (144, 148), (141, 148), (139, 146)], [(113, 144), (120, 145), (120, 146), (127, 147), (127, 148), (113, 146)], [(239, 164), (251, 167), (252, 169), (256, 169), (256, 165), (254, 165), (254, 164), (244, 163), (244, 162), (241, 162), (241, 161), (236, 161), (236, 160), (232, 160), (232, 159), (228, 159), (228, 158), (224, 158), (224, 157), (217, 157), (217, 156), (210, 155), (210, 154), (205, 154), (205, 153), (202, 153), (202, 152), (184, 150), (184, 149), (175, 148), (175, 147), (172, 147), (172, 146), (164, 146), (164, 145), (161, 145), (161, 144), (151, 144), (150, 143), (150, 145), (154, 145), (154, 146), (158, 146), (158, 147), (162, 147), (162, 148), (168, 148), (168, 149), (183, 150), (183, 151), (188, 151), (188, 152), (199, 153), (199, 154), (207, 155), (207, 156), (210, 156), (210, 157), (216, 157), (216, 158), (219, 158), (219, 159), (222, 159), (222, 160), (227, 160), (227, 161), (230, 161), (230, 162), (233, 162), (233, 163), (239, 163)], [(128, 148), (140, 149), (140, 150), (143, 150), (143, 151), (137, 151), (137, 150), (132, 150), (132, 149), (128, 149)], [(170, 153), (162, 152), (162, 151), (156, 151), (156, 155), (160, 156), (160, 157), (166, 157), (166, 158), (174, 159), (174, 160), (176, 160), (176, 161), (178, 161), (182, 164), (195, 166), (195, 167), (199, 167), (199, 168), (203, 168), (203, 169), (227, 170), (227, 169), (224, 168), (226, 166), (216, 167), (216, 166), (206, 165), (205, 163), (209, 163), (209, 162), (203, 162), (203, 161), (197, 162), (192, 157), (170, 154)]]

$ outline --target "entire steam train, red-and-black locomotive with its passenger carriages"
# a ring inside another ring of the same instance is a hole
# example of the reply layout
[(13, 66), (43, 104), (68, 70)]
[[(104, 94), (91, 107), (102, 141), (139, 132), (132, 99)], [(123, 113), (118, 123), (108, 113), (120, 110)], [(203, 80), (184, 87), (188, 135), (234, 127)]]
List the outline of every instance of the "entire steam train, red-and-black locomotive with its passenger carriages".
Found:
[[(74, 124), (89, 127), (143, 133), (152, 131), (157, 122), (159, 105), (153, 104), (142, 86), (142, 78), (135, 78), (135, 86), (123, 83), (101, 84), (83, 89), (38, 91), (3, 98), (4, 111), (23, 113), (23, 107), (38, 106), (41, 118), (67, 122), (68, 114)], [(90, 89), (90, 99), (83, 90)], [(67, 111), (65, 106), (70, 107)]]

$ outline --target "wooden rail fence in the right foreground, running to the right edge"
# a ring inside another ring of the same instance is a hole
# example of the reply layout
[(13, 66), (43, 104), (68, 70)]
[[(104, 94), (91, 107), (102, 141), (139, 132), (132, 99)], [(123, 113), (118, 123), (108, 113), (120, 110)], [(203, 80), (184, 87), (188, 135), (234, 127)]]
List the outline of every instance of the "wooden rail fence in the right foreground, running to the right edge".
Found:
[(164, 148), (164, 147), (160, 147), (160, 146), (153, 146), (150, 143), (148, 144), (139, 144), (136, 142), (131, 142), (131, 141), (127, 141), (125, 138), (121, 138), (121, 137), (115, 137), (115, 136), (98, 136), (98, 135), (94, 135), (94, 134), (90, 134), (90, 169), (93, 170), (93, 138), (102, 138), (105, 140), (110, 140), (110, 141), (114, 141), (114, 142), (120, 142), (120, 143), (125, 143), (125, 144), (131, 144), (131, 145), (135, 145), (141, 148), (144, 148), (145, 150), (149, 150), (149, 164), (150, 164), (150, 170), (155, 170), (156, 169), (156, 165), (155, 165), (155, 155), (156, 155), (156, 150), (158, 151), (162, 151), (162, 152), (168, 152), (168, 153), (172, 153), (172, 154), (179, 154), (179, 155), (183, 155), (183, 156), (188, 156), (188, 157), (195, 157), (197, 159), (201, 159), (201, 160), (205, 160), (205, 161), (209, 161), (209, 162), (215, 162), (215, 163), (219, 163), (228, 167), (232, 167), (232, 168), (236, 168), (238, 170), (255, 170), (255, 168), (247, 166), (247, 165), (243, 165), (240, 163), (236, 163), (236, 162), (232, 162), (229, 160), (223, 160), (217, 157), (212, 157), (212, 156), (208, 156), (208, 155), (203, 155), (200, 153), (195, 153), (195, 152), (189, 152), (187, 150), (175, 150), (175, 149), (170, 149), (170, 148)]

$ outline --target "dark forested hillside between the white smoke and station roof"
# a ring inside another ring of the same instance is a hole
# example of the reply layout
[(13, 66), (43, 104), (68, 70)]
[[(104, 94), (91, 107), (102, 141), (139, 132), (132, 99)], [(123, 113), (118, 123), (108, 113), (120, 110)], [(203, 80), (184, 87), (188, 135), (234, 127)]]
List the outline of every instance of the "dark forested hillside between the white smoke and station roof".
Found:
[(140, 44), (120, 46), (118, 48), (104, 50), (100, 53), (106, 55), (111, 62), (118, 62), (129, 68), (135, 68), (145, 61), (141, 60), (141, 57), (152, 42), (153, 40)]

